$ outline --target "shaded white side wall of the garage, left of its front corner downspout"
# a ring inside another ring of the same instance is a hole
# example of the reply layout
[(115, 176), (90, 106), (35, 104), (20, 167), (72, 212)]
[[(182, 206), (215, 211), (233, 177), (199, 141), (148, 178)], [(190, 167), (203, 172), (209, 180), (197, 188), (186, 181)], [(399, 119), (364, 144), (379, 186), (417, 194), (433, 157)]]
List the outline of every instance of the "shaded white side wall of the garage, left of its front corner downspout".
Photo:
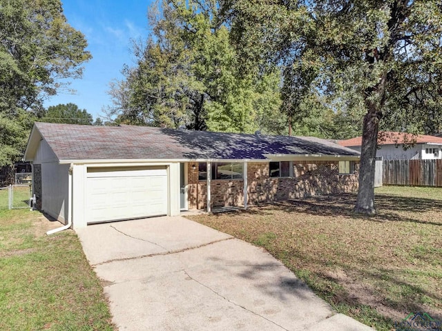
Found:
[(69, 165), (41, 163), (41, 209), (62, 223), (68, 221)]

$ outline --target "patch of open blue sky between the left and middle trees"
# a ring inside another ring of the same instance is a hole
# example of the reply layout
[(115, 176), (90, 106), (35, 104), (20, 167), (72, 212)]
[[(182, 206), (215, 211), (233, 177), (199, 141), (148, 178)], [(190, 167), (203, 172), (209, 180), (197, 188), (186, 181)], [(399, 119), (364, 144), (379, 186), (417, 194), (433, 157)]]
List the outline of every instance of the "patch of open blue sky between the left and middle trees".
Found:
[(145, 39), (148, 35), (146, 12), (150, 0), (61, 0), (64, 14), (73, 28), (80, 30), (88, 41), (93, 56), (84, 65), (82, 79), (70, 80), (69, 88), (76, 94), (60, 91), (46, 100), (44, 106), (75, 103), (93, 114), (111, 104), (106, 94), (112, 79), (121, 79), (124, 63), (133, 66), (131, 38)]

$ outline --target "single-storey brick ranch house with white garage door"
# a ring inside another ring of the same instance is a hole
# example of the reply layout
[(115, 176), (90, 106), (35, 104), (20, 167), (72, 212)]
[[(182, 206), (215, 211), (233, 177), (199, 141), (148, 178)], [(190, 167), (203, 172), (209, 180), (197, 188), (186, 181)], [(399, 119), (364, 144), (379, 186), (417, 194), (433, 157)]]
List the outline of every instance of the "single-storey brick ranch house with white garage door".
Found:
[(359, 153), (311, 137), (35, 123), (24, 159), (37, 207), (74, 228), (358, 188)]

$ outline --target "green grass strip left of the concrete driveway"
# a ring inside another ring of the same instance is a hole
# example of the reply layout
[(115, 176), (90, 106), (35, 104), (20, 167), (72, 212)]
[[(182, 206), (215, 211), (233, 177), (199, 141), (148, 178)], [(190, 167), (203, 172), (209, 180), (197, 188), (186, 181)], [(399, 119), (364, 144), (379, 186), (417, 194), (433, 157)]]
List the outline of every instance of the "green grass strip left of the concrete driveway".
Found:
[(0, 330), (114, 330), (77, 235), (46, 236), (48, 223), (0, 209)]

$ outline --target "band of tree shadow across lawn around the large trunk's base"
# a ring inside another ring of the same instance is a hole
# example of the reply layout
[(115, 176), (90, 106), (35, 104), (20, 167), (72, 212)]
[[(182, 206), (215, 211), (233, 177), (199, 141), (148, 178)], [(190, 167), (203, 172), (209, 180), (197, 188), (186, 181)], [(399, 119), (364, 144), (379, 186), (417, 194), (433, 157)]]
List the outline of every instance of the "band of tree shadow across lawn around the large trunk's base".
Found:
[(386, 194), (376, 195), (375, 203), (377, 213), (375, 215), (356, 214), (353, 212), (355, 203), (356, 194), (327, 195), (273, 202), (261, 205), (260, 207), (263, 208), (250, 208), (247, 211), (239, 210), (235, 212), (227, 212), (227, 214), (230, 214), (231, 216), (235, 216), (238, 212), (266, 214), (270, 212), (271, 209), (276, 208), (285, 212), (298, 212), (325, 217), (349, 217), (378, 222), (401, 221), (442, 225), (442, 217), (440, 218), (440, 221), (430, 221), (412, 216), (412, 214), (416, 214), (417, 216), (424, 212), (442, 212), (442, 201), (439, 200), (398, 197)]

